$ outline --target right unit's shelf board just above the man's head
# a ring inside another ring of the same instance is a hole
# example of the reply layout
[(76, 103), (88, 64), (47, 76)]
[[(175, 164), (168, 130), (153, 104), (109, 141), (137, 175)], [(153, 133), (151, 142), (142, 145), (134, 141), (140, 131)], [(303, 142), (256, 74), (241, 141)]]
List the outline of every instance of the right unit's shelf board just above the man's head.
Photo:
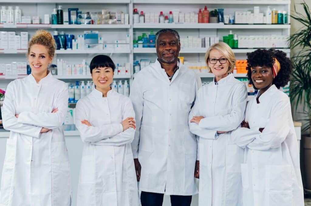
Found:
[(138, 23), (133, 28), (215, 28), (215, 29), (289, 29), (290, 24), (223, 24), (223, 23), (170, 23), (170, 24), (150, 24)]

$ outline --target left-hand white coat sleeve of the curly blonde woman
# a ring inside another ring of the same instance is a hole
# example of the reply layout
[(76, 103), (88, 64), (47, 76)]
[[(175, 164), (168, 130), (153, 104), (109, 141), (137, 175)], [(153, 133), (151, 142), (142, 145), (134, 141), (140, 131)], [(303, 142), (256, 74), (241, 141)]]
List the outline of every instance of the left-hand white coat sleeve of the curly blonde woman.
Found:
[(39, 138), (40, 131), (42, 127), (38, 127), (31, 124), (23, 124), (17, 121), (16, 110), (14, 105), (14, 93), (20, 92), (14, 90), (13, 82), (11, 82), (7, 86), (7, 91), (5, 93), (5, 98), (3, 101), (2, 107), (2, 121), (3, 121), (3, 128), (10, 130), (12, 132), (25, 134), (31, 137)]

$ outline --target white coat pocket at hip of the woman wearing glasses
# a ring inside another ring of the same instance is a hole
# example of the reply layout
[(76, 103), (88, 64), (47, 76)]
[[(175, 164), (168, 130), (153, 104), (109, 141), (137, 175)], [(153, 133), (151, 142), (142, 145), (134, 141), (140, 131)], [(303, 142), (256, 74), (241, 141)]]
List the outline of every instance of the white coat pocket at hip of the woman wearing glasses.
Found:
[(226, 171), (227, 173), (240, 173), (244, 160), (244, 149), (236, 144), (226, 145)]

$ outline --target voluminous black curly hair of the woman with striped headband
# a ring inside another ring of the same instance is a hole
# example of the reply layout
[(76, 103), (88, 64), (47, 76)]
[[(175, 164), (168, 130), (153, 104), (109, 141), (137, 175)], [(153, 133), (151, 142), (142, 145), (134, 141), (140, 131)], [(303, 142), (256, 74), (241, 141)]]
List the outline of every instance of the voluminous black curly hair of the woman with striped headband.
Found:
[(281, 69), (276, 77), (273, 79), (272, 84), (276, 86), (276, 88), (280, 88), (285, 86), (290, 80), (290, 74), (292, 72), (293, 64), (290, 59), (286, 56), (286, 53), (281, 50), (276, 49), (258, 49), (253, 52), (247, 53), (247, 77), (249, 83), (254, 86), (252, 80), (252, 67), (256, 66), (266, 66), (272, 68), (274, 63), (274, 58), (276, 58), (281, 65)]

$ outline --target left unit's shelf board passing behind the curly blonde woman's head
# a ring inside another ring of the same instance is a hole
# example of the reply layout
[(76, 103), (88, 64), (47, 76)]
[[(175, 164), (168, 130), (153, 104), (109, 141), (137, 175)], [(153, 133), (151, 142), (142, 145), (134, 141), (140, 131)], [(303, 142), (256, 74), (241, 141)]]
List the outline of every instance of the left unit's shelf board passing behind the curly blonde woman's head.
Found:
[[(26, 54), (26, 49), (0, 49), (0, 54)], [(56, 54), (129, 54), (131, 51), (129, 49), (104, 49), (104, 50), (56, 50)]]

